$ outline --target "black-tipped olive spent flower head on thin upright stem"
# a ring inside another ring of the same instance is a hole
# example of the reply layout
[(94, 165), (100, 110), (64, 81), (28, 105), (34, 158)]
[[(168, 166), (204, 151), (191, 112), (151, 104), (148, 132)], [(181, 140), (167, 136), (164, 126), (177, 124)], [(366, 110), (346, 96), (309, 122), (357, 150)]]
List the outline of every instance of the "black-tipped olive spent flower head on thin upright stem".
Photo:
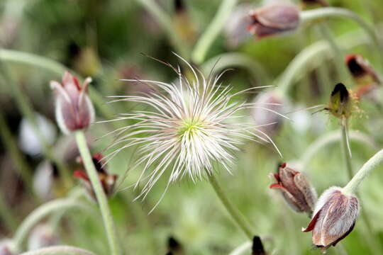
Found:
[(336, 84), (331, 92), (330, 103), (325, 110), (328, 110), (337, 118), (349, 118), (353, 109), (353, 100), (350, 92), (344, 84)]

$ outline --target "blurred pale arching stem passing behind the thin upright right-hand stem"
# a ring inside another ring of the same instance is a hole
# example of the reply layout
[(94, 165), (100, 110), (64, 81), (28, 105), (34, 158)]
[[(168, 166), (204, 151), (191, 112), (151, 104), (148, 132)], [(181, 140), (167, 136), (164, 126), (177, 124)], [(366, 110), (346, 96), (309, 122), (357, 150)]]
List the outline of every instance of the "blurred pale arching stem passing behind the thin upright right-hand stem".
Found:
[[(369, 145), (373, 149), (377, 148), (374, 140), (361, 132), (350, 132), (349, 138), (350, 140), (360, 142), (363, 145)], [(340, 139), (342, 139), (342, 135), (337, 131), (328, 132), (326, 135), (321, 135), (321, 137), (313, 142), (301, 156), (301, 159), (299, 160), (301, 169), (306, 169), (306, 166), (309, 164), (311, 158), (315, 156), (315, 154), (317, 154), (321, 149), (333, 144), (334, 142), (338, 142)]]

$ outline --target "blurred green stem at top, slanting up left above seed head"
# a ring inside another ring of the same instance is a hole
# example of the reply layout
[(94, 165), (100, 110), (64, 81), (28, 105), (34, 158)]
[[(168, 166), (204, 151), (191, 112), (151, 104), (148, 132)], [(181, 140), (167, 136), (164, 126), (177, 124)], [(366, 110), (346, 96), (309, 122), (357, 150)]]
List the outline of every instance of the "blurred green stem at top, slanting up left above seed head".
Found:
[(174, 47), (177, 49), (179, 54), (182, 57), (186, 57), (189, 59), (189, 49), (186, 47), (186, 43), (182, 41), (181, 38), (179, 38), (179, 35), (177, 35), (176, 30), (174, 29), (174, 26), (172, 24), (172, 20), (167, 16), (167, 14), (162, 11), (160, 6), (155, 1), (152, 0), (135, 0), (138, 2), (138, 4), (141, 4), (144, 6), (151, 14), (157, 19), (157, 22), (164, 28), (164, 30), (167, 32), (167, 36), (170, 38), (170, 41), (174, 45)]

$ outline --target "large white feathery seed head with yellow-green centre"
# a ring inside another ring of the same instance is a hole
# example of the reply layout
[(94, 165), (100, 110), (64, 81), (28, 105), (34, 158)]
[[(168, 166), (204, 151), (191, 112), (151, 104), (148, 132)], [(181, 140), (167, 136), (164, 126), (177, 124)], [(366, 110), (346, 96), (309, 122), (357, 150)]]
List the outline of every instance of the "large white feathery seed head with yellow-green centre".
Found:
[[(143, 103), (150, 108), (123, 113), (116, 118), (135, 120), (136, 123), (111, 132), (116, 136), (108, 148), (122, 147), (105, 157), (109, 161), (123, 149), (138, 146), (138, 159), (131, 169), (143, 166), (136, 184), (147, 180), (141, 193), (143, 198), (166, 170), (170, 173), (167, 186), (183, 176), (195, 181), (213, 174), (213, 164), (216, 163), (230, 172), (229, 165), (235, 159), (233, 152), (238, 151), (243, 140), (272, 142), (251, 121), (240, 121), (243, 117), (240, 112), (262, 106), (233, 100), (241, 92), (232, 94), (231, 87), (219, 84), (222, 74), (205, 79), (199, 70), (182, 61), (193, 74), (193, 81), (186, 79), (179, 68), (168, 64), (178, 74), (176, 84), (126, 79), (149, 84), (154, 91), (143, 96), (114, 96), (114, 101)], [(255, 88), (245, 91), (252, 89)]]

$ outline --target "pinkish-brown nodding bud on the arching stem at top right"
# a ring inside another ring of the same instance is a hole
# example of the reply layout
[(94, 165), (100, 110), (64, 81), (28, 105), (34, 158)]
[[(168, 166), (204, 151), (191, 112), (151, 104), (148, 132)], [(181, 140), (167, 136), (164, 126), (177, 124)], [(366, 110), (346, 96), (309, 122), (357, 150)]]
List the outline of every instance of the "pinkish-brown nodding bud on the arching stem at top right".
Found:
[(257, 38), (279, 35), (299, 26), (299, 9), (292, 4), (271, 4), (250, 13), (248, 31)]

